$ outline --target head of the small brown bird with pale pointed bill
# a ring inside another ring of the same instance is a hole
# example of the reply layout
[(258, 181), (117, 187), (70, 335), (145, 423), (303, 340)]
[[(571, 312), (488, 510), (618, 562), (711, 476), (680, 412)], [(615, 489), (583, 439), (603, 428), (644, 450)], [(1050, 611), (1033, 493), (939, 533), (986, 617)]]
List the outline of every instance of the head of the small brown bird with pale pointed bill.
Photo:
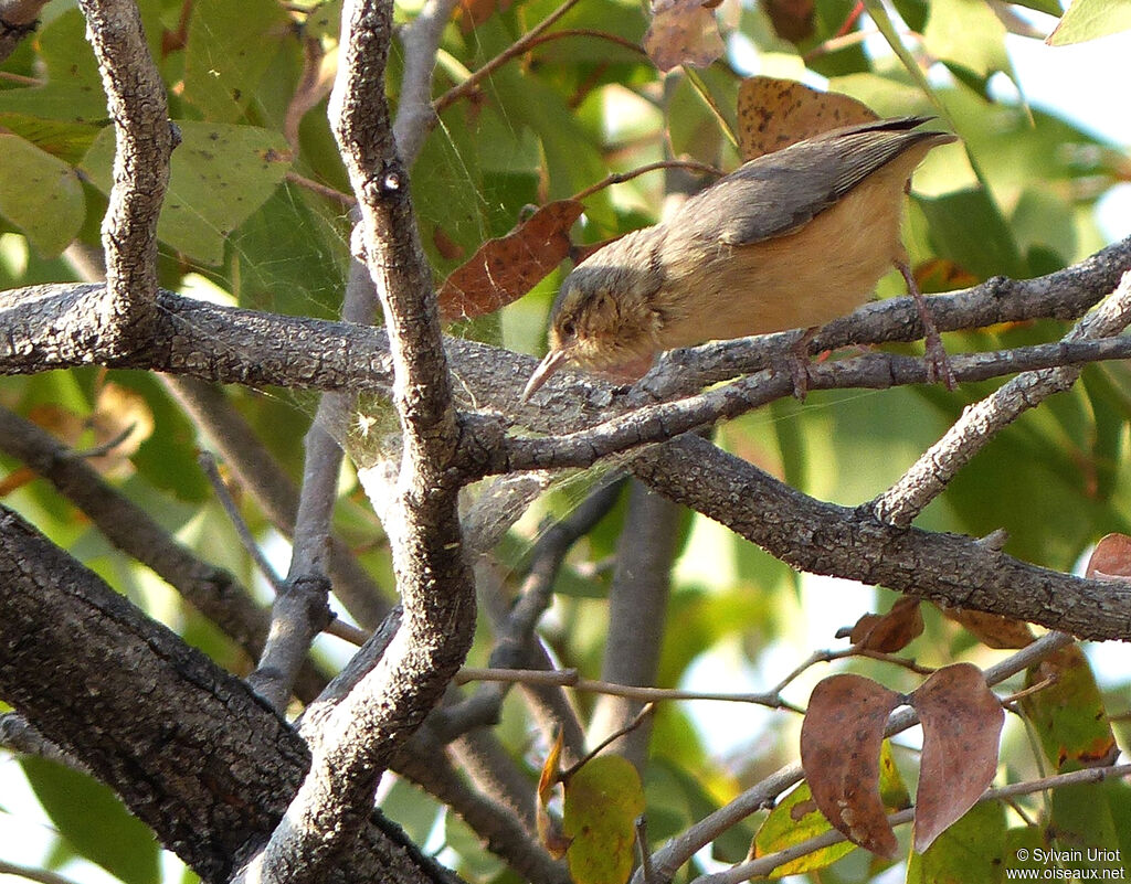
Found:
[(636, 380), (651, 365), (662, 349), (663, 314), (642, 233), (595, 252), (566, 277), (550, 315), (550, 350), (530, 375), (524, 401), (567, 363), (619, 381)]

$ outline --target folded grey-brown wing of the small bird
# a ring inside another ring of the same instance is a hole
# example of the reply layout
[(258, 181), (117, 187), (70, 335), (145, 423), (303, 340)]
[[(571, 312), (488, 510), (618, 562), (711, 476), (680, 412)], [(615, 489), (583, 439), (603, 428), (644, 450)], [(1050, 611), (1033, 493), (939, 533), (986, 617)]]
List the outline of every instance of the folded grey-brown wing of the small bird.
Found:
[(915, 145), (953, 140), (949, 132), (912, 131), (927, 116), (845, 127), (766, 154), (688, 200), (711, 239), (749, 245), (791, 233)]

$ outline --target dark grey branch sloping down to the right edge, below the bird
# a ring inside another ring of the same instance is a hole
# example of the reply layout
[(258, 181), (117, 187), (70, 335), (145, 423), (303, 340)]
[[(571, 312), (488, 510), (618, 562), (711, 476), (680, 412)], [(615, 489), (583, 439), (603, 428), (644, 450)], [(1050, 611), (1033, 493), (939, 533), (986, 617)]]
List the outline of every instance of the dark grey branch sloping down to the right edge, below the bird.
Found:
[(698, 436), (649, 449), (631, 468), (656, 491), (801, 571), (880, 583), (1085, 639), (1131, 639), (1131, 584), (1048, 571), (968, 537), (896, 528), (866, 505), (821, 503)]

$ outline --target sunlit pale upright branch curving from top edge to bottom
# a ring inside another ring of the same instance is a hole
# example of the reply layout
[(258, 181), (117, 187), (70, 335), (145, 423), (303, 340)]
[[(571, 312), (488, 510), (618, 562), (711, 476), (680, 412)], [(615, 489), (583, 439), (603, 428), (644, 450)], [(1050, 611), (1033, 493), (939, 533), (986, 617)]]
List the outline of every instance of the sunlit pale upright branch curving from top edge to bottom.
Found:
[(260, 881), (321, 881), (353, 847), (396, 748), (440, 699), (470, 645), (475, 592), (459, 531), (460, 483), (446, 471), (459, 441), (451, 382), (412, 205), (385, 98), (391, 2), (346, 2), (330, 99), (361, 224), (355, 233), (385, 309), (403, 428), (386, 532), (404, 608), (372, 671), (330, 712), (311, 770), (283, 823), (247, 869)]

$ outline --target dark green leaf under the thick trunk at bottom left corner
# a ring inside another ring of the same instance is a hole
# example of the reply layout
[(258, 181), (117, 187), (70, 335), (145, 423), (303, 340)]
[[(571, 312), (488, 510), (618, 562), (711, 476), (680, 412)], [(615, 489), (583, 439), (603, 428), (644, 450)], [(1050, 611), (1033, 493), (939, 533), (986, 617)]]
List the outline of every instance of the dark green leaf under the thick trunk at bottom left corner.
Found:
[(161, 881), (153, 832), (110, 789), (43, 759), (25, 756), (19, 764), (51, 822), (81, 856), (126, 884)]

